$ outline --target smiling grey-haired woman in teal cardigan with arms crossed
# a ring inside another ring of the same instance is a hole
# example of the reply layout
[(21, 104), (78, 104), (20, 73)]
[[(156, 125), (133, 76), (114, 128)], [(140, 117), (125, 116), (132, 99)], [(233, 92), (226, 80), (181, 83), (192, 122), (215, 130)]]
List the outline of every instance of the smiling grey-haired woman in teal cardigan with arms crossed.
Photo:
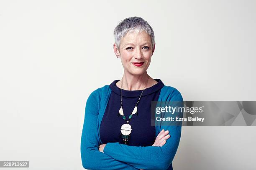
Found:
[(121, 80), (89, 96), (81, 139), (85, 169), (172, 170), (181, 126), (151, 126), (151, 101), (183, 101), (174, 87), (147, 73), (155, 50), (154, 31), (142, 18), (122, 20), (114, 30)]

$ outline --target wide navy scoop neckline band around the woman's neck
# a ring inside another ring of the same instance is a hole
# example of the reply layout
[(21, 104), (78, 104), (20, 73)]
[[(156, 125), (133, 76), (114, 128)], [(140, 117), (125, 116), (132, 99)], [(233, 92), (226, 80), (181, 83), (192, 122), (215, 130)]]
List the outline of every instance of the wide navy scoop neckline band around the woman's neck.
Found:
[[(152, 85), (151, 87), (144, 89), (142, 95), (141, 95), (142, 90), (123, 90), (122, 89), (122, 97), (139, 97), (140, 95), (145, 96), (153, 92), (156, 92), (160, 90), (162, 87), (164, 87), (164, 83), (160, 79), (154, 79), (154, 80), (156, 80), (157, 83), (155, 85)], [(110, 84), (110, 89), (113, 92), (115, 92), (117, 95), (121, 95), (121, 89), (116, 85), (118, 81), (120, 80), (114, 80)]]

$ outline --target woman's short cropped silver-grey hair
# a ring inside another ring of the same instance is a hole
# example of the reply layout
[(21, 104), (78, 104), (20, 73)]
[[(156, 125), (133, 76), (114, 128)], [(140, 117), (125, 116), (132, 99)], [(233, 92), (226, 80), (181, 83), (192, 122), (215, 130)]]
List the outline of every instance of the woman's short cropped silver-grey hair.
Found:
[(147, 21), (140, 17), (130, 17), (121, 20), (118, 26), (114, 30), (115, 44), (118, 49), (120, 47), (121, 38), (124, 37), (128, 32), (142, 32), (145, 31), (151, 37), (152, 46), (155, 45), (155, 35), (152, 27)]

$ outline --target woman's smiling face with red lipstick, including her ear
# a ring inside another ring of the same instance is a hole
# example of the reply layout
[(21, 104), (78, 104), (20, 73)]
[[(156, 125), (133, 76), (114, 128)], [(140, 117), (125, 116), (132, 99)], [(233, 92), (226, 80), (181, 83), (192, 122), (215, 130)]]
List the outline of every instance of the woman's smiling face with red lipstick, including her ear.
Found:
[(120, 57), (125, 72), (141, 75), (148, 69), (154, 52), (151, 37), (145, 32), (128, 32), (121, 38), (120, 48), (114, 44), (114, 51)]

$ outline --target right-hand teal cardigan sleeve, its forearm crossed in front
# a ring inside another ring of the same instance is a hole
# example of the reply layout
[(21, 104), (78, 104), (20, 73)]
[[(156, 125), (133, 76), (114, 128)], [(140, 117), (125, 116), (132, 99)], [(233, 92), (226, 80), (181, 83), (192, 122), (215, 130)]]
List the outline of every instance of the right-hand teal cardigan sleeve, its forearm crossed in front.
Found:
[[(170, 99), (170, 100), (169, 100)], [(182, 101), (183, 98), (177, 90), (175, 95), (167, 97), (168, 101)], [(183, 116), (183, 113), (181, 113)], [(161, 130), (169, 130), (171, 137), (162, 147), (156, 146), (129, 146), (120, 143), (107, 143), (104, 153), (135, 168), (143, 170), (166, 170), (171, 165), (177, 152), (181, 137), (181, 125), (161, 126)]]

